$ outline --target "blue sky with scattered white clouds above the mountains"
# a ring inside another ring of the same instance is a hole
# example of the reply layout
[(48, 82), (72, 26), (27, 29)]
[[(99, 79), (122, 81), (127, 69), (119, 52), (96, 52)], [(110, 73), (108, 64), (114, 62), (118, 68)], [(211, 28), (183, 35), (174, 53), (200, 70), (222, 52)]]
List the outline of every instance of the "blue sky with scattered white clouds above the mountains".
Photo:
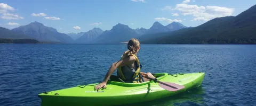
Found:
[(236, 16), (255, 0), (1, 0), (0, 26), (13, 29), (40, 22), (61, 33), (110, 30), (118, 23), (149, 29), (180, 22), (197, 27), (215, 17)]

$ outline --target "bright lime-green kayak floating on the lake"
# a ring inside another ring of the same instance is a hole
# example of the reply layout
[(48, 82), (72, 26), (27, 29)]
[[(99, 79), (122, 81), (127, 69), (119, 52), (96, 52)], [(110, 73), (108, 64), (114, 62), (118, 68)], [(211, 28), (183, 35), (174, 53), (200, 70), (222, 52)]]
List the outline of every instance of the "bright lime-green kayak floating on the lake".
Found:
[[(185, 86), (178, 91), (167, 91), (154, 81), (143, 83), (124, 83), (110, 78), (107, 88), (94, 91), (98, 83), (78, 85), (68, 89), (38, 94), (41, 105), (121, 105), (156, 100), (172, 96), (188, 89), (201, 86), (204, 73), (188, 74), (153, 74), (158, 81)], [(114, 81), (115, 80), (115, 81)]]

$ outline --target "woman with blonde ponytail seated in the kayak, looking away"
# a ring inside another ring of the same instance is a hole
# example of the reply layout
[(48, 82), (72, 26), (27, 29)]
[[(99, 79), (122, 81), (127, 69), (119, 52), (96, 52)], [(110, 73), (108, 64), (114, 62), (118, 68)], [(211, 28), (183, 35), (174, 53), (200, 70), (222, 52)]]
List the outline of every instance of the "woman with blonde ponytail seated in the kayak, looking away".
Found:
[[(107, 81), (111, 74), (117, 69), (117, 76), (126, 83), (140, 83), (149, 81), (145, 76), (155, 78), (151, 73), (140, 72), (140, 64), (137, 58), (138, 51), (140, 50), (140, 42), (138, 39), (130, 39), (127, 48), (121, 56), (119, 61), (116, 61), (109, 68), (104, 80), (94, 87), (95, 90), (106, 88)], [(143, 77), (142, 77), (143, 76)]]

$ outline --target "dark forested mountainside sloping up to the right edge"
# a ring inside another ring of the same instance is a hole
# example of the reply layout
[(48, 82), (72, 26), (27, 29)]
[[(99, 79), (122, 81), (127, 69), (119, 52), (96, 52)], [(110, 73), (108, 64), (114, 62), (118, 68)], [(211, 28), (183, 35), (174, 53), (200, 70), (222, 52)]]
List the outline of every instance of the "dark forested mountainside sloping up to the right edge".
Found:
[(256, 5), (237, 16), (212, 19), (195, 28), (153, 34), (142, 43), (256, 44)]

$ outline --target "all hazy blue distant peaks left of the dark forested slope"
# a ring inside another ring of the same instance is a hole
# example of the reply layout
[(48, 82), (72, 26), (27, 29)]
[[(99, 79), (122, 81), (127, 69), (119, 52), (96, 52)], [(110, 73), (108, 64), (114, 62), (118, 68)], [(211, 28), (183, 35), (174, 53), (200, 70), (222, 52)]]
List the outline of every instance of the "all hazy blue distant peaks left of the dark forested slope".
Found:
[(0, 28), (0, 38), (35, 39), (40, 42), (60, 43), (119, 43), (122, 41), (127, 41), (131, 38), (138, 38), (148, 33), (173, 31), (182, 28), (186, 27), (175, 22), (166, 26), (159, 22), (155, 22), (150, 29), (131, 29), (128, 25), (118, 23), (111, 30), (107, 31), (103, 31), (100, 28), (93, 28), (87, 32), (65, 34), (35, 21), (12, 30)]

